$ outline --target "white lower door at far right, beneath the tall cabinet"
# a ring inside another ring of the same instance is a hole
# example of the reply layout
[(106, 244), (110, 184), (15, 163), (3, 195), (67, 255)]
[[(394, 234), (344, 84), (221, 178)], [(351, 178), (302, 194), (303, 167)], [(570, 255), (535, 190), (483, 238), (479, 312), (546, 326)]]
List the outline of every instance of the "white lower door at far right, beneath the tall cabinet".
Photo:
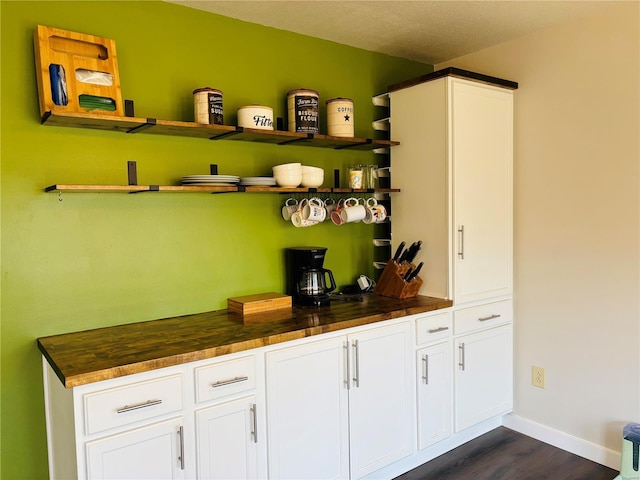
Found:
[(459, 337), (454, 345), (455, 428), (459, 432), (511, 410), (511, 325)]

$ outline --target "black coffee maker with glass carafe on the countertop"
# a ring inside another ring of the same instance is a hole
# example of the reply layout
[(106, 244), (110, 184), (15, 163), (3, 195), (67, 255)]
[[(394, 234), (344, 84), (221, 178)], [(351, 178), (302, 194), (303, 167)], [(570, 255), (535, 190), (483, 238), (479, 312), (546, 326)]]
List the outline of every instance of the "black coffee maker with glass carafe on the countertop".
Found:
[[(287, 294), (296, 305), (329, 304), (329, 292), (336, 289), (331, 270), (323, 268), (325, 247), (286, 249)], [(327, 277), (329, 285), (327, 285)]]

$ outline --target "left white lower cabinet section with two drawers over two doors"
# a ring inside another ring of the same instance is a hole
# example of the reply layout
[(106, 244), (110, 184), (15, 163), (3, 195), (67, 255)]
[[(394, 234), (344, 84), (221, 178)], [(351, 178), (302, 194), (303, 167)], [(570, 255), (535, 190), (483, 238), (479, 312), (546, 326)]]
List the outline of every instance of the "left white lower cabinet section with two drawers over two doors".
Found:
[(228, 355), (73, 389), (45, 360), (50, 478), (265, 478), (258, 356)]

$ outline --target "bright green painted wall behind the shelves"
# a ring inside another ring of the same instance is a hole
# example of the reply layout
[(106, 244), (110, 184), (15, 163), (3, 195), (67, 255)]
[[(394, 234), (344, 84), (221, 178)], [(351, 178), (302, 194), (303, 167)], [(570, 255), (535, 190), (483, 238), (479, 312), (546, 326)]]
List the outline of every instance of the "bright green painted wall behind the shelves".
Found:
[[(258, 103), (285, 117), (286, 92), (351, 97), (371, 137), (371, 96), (432, 71), (419, 64), (160, 2), (0, 2), (2, 14), (2, 478), (47, 476), (36, 338), (224, 308), (229, 296), (283, 291), (283, 248), (322, 245), (339, 285), (372, 274), (373, 227), (285, 223), (276, 194), (57, 194), (55, 183), (173, 184), (183, 175), (266, 175), (301, 161), (328, 172), (370, 152), (210, 142), (41, 126), (33, 30), (113, 38), (136, 116), (193, 118), (192, 90), (224, 91), (225, 123)], [(355, 21), (355, 20), (354, 20)], [(321, 127), (323, 128), (323, 127)]]

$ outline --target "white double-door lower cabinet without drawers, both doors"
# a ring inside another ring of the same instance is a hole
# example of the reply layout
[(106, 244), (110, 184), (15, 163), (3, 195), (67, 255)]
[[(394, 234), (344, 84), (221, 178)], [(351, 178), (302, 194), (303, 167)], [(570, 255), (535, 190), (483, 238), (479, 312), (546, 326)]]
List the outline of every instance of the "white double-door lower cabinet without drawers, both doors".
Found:
[(360, 478), (412, 451), (411, 325), (266, 354), (269, 476)]

